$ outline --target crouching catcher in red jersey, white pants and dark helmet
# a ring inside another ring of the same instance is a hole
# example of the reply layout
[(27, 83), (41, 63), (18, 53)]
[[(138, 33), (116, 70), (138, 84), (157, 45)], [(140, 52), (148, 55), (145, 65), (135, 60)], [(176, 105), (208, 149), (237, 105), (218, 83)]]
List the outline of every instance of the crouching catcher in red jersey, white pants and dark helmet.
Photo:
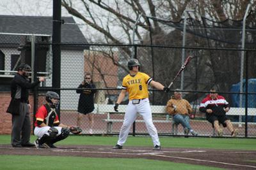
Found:
[(61, 124), (58, 118), (58, 104), (60, 96), (56, 92), (48, 91), (45, 95), (46, 103), (36, 112), (35, 131), (38, 137), (36, 148), (56, 148), (54, 143), (68, 137), (69, 133), (79, 134), (79, 127)]

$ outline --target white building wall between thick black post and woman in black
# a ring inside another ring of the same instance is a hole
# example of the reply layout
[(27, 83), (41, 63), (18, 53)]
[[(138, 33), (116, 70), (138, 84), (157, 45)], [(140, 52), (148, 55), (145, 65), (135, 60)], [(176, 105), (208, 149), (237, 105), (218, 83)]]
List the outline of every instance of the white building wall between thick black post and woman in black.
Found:
[[(61, 88), (76, 89), (83, 76), (83, 50), (61, 50)], [(76, 90), (61, 90), (61, 110), (77, 110), (78, 100)]]

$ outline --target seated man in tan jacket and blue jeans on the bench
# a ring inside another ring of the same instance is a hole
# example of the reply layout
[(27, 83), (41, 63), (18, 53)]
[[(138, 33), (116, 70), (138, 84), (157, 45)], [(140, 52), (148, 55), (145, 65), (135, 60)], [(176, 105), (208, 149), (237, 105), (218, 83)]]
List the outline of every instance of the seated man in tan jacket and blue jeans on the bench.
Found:
[(184, 134), (187, 136), (189, 132), (193, 136), (197, 136), (198, 133), (193, 131), (189, 124), (189, 114), (192, 113), (192, 108), (186, 99), (182, 99), (182, 93), (179, 89), (176, 89), (174, 96), (166, 104), (166, 111), (172, 115), (175, 124), (182, 124), (184, 128)]

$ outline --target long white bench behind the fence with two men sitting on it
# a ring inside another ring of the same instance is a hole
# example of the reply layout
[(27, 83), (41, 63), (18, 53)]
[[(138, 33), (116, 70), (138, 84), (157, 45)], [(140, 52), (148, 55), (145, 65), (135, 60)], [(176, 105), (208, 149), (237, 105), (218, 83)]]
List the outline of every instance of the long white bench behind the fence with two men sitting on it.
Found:
[[(112, 133), (113, 129), (113, 123), (114, 122), (124, 122), (123, 119), (112, 119), (110, 117), (111, 114), (124, 114), (125, 108), (127, 105), (120, 104), (118, 106), (118, 112), (114, 111), (114, 104), (95, 104), (95, 113), (104, 114), (107, 113), (107, 118), (103, 119), (104, 122), (107, 122), (107, 133)], [(156, 106), (152, 105), (150, 106), (152, 111), (152, 116), (154, 115), (164, 115), (164, 120), (154, 120), (154, 123), (171, 123), (172, 124), (172, 134), (177, 135), (178, 133), (178, 125), (173, 122), (172, 117), (168, 113), (166, 113), (166, 106)], [(244, 116), (245, 110), (244, 108), (230, 108), (230, 111), (228, 111), (227, 115), (230, 116)], [(256, 116), (256, 108), (248, 108), (248, 116)], [(204, 118), (205, 119), (205, 118)], [(195, 120), (195, 121), (201, 121), (201, 122), (207, 122), (207, 120)], [(144, 120), (136, 120), (135, 122), (144, 122)], [(244, 122), (232, 122), (232, 124), (239, 124), (242, 125)], [(248, 124), (256, 124), (256, 122), (248, 122)], [(215, 134), (214, 128), (212, 130), (212, 133)]]

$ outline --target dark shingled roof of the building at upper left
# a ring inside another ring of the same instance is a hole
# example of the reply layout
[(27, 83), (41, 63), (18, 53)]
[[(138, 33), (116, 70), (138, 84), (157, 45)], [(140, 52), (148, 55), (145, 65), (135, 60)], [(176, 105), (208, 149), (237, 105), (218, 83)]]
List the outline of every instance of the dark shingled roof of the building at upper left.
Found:
[[(65, 23), (74, 23), (61, 25), (61, 43), (88, 43), (72, 17), (61, 17), (61, 19)], [(51, 35), (52, 17), (0, 15), (0, 32)], [(19, 43), (19, 41), (20, 36), (0, 34), (0, 43)]]

